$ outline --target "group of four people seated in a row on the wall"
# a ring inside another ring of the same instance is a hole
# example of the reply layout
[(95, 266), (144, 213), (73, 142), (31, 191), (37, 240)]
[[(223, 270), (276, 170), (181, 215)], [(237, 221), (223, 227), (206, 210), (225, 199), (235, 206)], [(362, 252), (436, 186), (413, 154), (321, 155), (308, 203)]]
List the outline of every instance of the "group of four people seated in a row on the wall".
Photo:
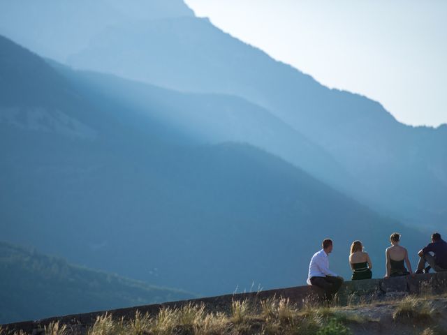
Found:
[[(413, 269), (408, 257), (408, 251), (400, 246), (400, 234), (393, 232), (390, 236), (391, 246), (386, 248), (385, 278), (395, 276), (413, 276)], [(344, 279), (329, 269), (328, 255), (332, 252), (331, 239), (323, 241), (323, 248), (312, 256), (309, 264), (307, 283), (322, 288), (327, 299), (332, 299), (338, 292)], [(432, 234), (432, 242), (418, 252), (419, 262), (415, 274), (426, 274), (430, 269), (447, 271), (447, 242), (441, 239), (441, 234)], [(428, 265), (427, 265), (428, 264)], [(372, 278), (372, 262), (368, 253), (363, 250), (361, 241), (353, 241), (349, 255), (349, 265), (353, 271), (352, 280)], [(405, 267), (406, 265), (406, 267)], [(427, 267), (425, 266), (427, 265)]]

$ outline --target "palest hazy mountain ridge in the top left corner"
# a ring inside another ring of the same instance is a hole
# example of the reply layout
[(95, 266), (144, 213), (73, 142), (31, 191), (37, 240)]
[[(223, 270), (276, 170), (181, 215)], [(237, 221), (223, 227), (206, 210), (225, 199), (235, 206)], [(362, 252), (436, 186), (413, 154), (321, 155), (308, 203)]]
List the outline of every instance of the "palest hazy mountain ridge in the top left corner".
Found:
[(112, 24), (193, 15), (182, 0), (2, 0), (0, 7), (0, 34), (59, 61)]

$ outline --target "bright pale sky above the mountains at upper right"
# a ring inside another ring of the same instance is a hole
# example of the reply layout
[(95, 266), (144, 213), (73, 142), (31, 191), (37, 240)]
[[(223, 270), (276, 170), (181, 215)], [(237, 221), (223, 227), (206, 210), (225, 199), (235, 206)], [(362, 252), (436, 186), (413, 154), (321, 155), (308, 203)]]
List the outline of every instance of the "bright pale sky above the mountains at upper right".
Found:
[(196, 15), (405, 124), (447, 123), (446, 0), (186, 0)]

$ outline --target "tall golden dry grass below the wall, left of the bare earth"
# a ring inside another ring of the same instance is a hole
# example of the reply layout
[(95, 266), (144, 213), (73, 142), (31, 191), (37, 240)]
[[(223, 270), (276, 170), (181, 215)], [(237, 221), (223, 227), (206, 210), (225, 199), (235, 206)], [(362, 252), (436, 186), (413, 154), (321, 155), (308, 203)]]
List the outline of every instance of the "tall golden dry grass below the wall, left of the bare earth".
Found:
[(88, 335), (350, 334), (346, 325), (352, 322), (360, 319), (336, 307), (307, 306), (300, 310), (284, 298), (258, 304), (245, 299), (233, 300), (228, 314), (207, 313), (203, 304), (162, 308), (153, 317), (137, 312), (129, 322), (114, 322), (112, 315), (105, 314), (96, 319)]

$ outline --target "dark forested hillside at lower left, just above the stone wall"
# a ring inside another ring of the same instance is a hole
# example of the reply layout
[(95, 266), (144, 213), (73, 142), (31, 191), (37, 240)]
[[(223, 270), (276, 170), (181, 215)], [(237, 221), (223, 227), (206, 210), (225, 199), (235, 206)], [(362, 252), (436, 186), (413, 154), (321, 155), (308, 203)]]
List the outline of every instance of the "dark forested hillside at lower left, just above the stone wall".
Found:
[(0, 324), (195, 297), (0, 242)]

